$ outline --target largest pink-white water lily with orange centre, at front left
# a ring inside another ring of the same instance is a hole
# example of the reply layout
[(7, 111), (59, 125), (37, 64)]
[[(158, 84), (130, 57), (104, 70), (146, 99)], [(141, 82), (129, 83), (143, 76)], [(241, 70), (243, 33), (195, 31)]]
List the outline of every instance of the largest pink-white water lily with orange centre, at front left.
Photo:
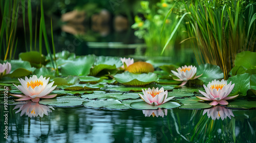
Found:
[(16, 86), (20, 91), (22, 91), (25, 94), (25, 96), (20, 94), (11, 94), (11, 96), (20, 98), (20, 99), (17, 99), (16, 101), (24, 101), (24, 100), (31, 99), (33, 102), (38, 102), (40, 98), (43, 98), (43, 99), (54, 98), (57, 96), (57, 94), (51, 94), (51, 95), (48, 95), (48, 94), (52, 92), (52, 90), (54, 90), (57, 85), (52, 87), (54, 81), (48, 84), (49, 79), (50, 78), (48, 79), (43, 78), (42, 76), (37, 78), (37, 76), (35, 75), (33, 77), (30, 77), (29, 79), (26, 77), (25, 80), (18, 79), (22, 85), (18, 85), (18, 86), (16, 86), (15, 84), (13, 85)]

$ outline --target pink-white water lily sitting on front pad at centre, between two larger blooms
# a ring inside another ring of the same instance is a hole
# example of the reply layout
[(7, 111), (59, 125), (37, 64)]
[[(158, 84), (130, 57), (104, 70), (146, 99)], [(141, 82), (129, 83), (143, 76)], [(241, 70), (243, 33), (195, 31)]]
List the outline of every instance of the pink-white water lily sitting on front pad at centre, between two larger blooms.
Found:
[[(165, 102), (170, 101), (174, 97), (167, 98), (167, 90), (164, 91), (163, 87), (158, 90), (158, 87), (155, 89), (148, 88), (143, 90), (143, 95), (139, 93), (140, 98), (150, 105), (161, 105)], [(167, 99), (166, 99), (167, 98)]]

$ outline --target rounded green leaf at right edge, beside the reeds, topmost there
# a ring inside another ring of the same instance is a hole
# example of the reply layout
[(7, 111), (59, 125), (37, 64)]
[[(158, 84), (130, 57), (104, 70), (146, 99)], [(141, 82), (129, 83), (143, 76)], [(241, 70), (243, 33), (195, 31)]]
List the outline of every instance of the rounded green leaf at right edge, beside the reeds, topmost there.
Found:
[(244, 51), (238, 53), (236, 59), (234, 60), (234, 65), (244, 66), (245, 68), (256, 68), (256, 53), (250, 51)]

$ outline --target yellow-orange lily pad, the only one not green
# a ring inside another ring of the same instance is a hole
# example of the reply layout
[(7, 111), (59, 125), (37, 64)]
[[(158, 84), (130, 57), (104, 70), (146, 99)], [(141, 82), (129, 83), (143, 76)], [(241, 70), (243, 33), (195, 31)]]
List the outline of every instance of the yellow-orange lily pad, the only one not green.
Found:
[(135, 62), (128, 66), (125, 71), (129, 71), (130, 73), (133, 74), (142, 74), (142, 73), (153, 73), (154, 72), (154, 67), (150, 63), (146, 62)]

